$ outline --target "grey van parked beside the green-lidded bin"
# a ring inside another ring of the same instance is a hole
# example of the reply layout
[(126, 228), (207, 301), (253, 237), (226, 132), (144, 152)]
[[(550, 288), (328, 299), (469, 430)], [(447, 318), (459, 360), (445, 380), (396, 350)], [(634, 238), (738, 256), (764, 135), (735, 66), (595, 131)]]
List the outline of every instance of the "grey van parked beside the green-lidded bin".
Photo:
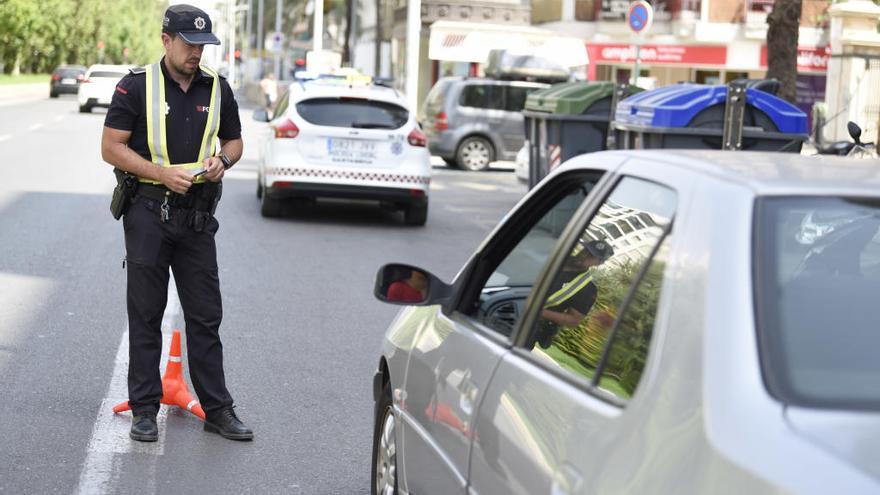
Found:
[(522, 109), (536, 82), (444, 77), (422, 107), (421, 123), (432, 155), (465, 170), (513, 160), (525, 141)]

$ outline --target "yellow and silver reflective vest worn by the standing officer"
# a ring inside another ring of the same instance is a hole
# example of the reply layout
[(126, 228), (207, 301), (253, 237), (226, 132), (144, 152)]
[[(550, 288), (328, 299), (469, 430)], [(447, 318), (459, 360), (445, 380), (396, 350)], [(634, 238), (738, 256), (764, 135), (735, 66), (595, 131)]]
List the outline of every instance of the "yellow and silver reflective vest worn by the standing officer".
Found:
[[(213, 78), (211, 83), (211, 100), (208, 107), (208, 121), (205, 123), (205, 134), (199, 147), (198, 161), (192, 163), (171, 163), (168, 158), (168, 136), (166, 135), (165, 116), (168, 108), (165, 102), (165, 76), (159, 63), (146, 67), (147, 72), (147, 146), (150, 148), (150, 159), (160, 167), (183, 168), (195, 172), (202, 168), (202, 162), (214, 154), (214, 146), (217, 142), (217, 133), (220, 131), (220, 84), (217, 73), (207, 67), (199, 66), (199, 69)], [(148, 184), (159, 184), (159, 181), (150, 179), (138, 179)], [(205, 181), (204, 176), (196, 177), (193, 181), (199, 184)]]

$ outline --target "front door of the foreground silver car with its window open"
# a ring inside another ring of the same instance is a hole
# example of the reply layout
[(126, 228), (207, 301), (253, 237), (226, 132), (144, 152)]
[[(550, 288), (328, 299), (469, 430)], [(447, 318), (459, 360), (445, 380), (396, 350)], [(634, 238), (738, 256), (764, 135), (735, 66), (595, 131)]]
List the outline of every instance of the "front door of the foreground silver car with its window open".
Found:
[(462, 271), (457, 302), (432, 309), (413, 344), (400, 400), (407, 492), (464, 493), (483, 391), (512, 345), (545, 260), (601, 177), (600, 170), (575, 171), (530, 196)]

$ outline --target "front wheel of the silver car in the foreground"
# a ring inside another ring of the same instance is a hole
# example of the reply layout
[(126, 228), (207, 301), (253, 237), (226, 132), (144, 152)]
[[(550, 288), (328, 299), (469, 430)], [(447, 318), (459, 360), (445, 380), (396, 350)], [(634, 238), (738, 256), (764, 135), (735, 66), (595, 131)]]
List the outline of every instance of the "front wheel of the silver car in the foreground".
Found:
[(372, 495), (397, 493), (397, 418), (391, 409), (391, 384), (386, 383), (376, 403), (373, 427)]

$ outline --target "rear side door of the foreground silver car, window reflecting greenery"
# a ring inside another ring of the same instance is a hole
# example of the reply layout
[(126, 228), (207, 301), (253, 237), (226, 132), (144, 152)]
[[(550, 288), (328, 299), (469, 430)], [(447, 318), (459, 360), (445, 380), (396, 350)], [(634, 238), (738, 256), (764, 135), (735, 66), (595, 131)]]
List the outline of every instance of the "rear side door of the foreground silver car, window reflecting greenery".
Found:
[[(644, 475), (650, 413), (631, 404), (647, 381), (673, 219), (687, 182), (658, 179), (668, 174), (616, 177), (610, 192), (572, 221), (480, 404), (469, 494), (627, 493), (627, 483)], [(587, 269), (596, 287), (592, 305), (577, 324), (553, 324), (553, 281), (564, 280), (572, 260), (597, 242), (613, 254)]]

